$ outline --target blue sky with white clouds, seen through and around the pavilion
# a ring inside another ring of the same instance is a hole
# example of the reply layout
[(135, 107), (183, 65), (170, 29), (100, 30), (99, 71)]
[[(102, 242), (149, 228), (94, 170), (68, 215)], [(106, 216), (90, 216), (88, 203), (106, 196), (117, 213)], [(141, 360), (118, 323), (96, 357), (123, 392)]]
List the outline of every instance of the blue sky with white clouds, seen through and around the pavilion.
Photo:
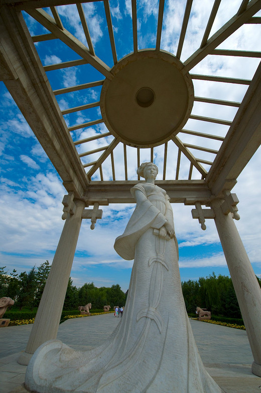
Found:
[[(234, 15), (240, 3), (240, 1), (233, 0), (229, 2), (228, 6), (227, 2), (221, 2), (212, 33), (220, 28), (221, 23)], [(120, 59), (133, 50), (131, 2), (110, 0), (110, 5), (117, 56)], [(177, 49), (177, 33), (181, 28), (182, 18), (180, 16), (184, 12), (184, 5), (183, 1), (175, 2), (175, 7), (174, 2), (171, 1), (167, 1), (165, 5), (162, 48), (174, 53)], [(199, 45), (207, 22), (206, 15), (210, 12), (211, 6), (212, 2), (193, 2), (188, 38), (184, 43), (181, 60), (184, 61)], [(113, 66), (112, 55), (108, 50), (109, 37), (105, 29), (103, 3), (86, 4), (84, 7), (95, 53), (109, 66)], [(66, 29), (84, 42), (85, 38), (79, 26), (76, 7), (58, 7), (57, 10)], [(155, 47), (157, 10), (158, 1), (156, 0), (138, 2), (139, 49)], [(70, 20), (68, 15), (70, 15)], [(47, 32), (31, 17), (26, 14), (24, 16), (32, 35)], [(251, 28), (252, 26), (248, 25), (239, 29), (233, 37), (226, 40), (226, 48), (260, 50), (258, 36), (251, 34), (250, 30), (249, 34), (249, 31), (246, 30)], [(249, 36), (251, 36), (250, 41)], [(45, 44), (40, 42), (36, 48), (44, 65), (79, 58), (75, 52), (59, 43), (58, 40), (50, 40)], [(208, 58), (202, 61), (192, 72), (203, 73), (207, 69), (210, 74), (251, 78), (259, 61), (253, 58), (247, 59), (247, 62), (244, 61), (242, 59), (239, 64), (232, 57), (229, 61), (224, 61), (222, 56), (219, 56), (218, 59), (212, 57), (212, 59)], [(104, 78), (88, 64), (47, 71), (47, 76), (54, 90)], [(245, 86), (234, 85), (231, 89), (231, 85), (219, 85), (215, 83), (211, 86), (206, 83), (199, 85), (198, 81), (194, 81), (195, 92), (200, 91), (201, 95), (205, 97), (212, 95), (212, 97), (218, 96), (227, 100), (239, 101), (246, 89)], [(2, 82), (0, 83), (0, 93), (2, 98), (0, 103), (2, 228), (0, 266), (7, 266), (9, 271), (15, 268), (20, 273), (28, 271), (34, 265), (39, 266), (47, 259), (52, 262), (64, 224), (61, 215), (62, 199), (66, 192), (46, 153)], [(99, 94), (100, 87), (97, 87), (58, 95), (56, 98), (60, 108), (64, 110), (83, 103), (98, 101)], [(215, 109), (210, 104), (204, 105), (200, 106), (200, 103), (195, 103), (193, 110), (215, 117)], [(235, 108), (225, 107), (220, 110), (223, 111), (223, 118), (233, 118)], [(96, 107), (65, 115), (65, 120), (68, 126), (73, 126), (99, 117), (100, 112)], [(189, 122), (193, 123), (192, 120)], [(207, 132), (209, 124), (204, 124), (204, 127)], [(202, 125), (200, 129), (202, 130)], [(226, 130), (224, 128), (224, 133)], [(98, 124), (91, 129), (76, 130), (72, 132), (72, 137), (74, 140), (83, 139), (87, 135), (91, 136), (104, 131), (104, 124)], [(211, 124), (212, 131), (215, 133), (215, 124)], [(111, 138), (108, 137), (106, 143), (109, 143), (110, 140)], [(193, 143), (191, 140), (189, 142)], [(96, 148), (98, 143), (100, 143), (99, 140), (94, 141), (93, 148)], [(84, 148), (82, 145), (78, 147), (79, 152), (82, 148)], [(120, 153), (115, 152), (115, 160), (117, 160), (117, 154)], [(144, 161), (149, 161), (147, 152), (144, 151), (142, 154)], [(156, 159), (160, 161), (160, 149)], [(238, 182), (232, 190), (239, 199), (238, 209), (241, 217), (235, 223), (254, 272), (258, 276), (261, 275), (260, 167), (259, 149), (237, 179)], [(117, 171), (119, 177), (123, 176), (120, 168), (117, 168)], [(95, 176), (93, 180), (98, 180), (99, 178)], [(104, 177), (106, 178), (106, 176), (109, 179), (105, 167)], [(214, 221), (207, 220), (206, 231), (201, 230), (198, 221), (192, 219), (191, 208), (191, 206), (183, 204), (173, 205), (175, 229), (179, 242), (181, 280), (198, 279), (212, 274), (212, 272), (228, 275)], [(134, 205), (103, 207), (103, 218), (97, 222), (93, 231), (90, 230), (90, 222), (84, 220), (71, 272), (74, 285), (81, 286), (85, 282), (91, 281), (96, 286), (111, 286), (118, 283), (124, 291), (127, 290), (133, 261), (123, 261), (114, 251), (113, 244), (115, 238), (123, 232), (133, 209)]]

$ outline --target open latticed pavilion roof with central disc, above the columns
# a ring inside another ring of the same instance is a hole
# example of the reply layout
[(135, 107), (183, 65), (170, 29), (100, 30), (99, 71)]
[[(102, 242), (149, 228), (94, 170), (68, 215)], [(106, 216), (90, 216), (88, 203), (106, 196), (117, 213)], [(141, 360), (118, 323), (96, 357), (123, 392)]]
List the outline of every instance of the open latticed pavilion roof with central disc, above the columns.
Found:
[[(172, 2), (159, 0), (149, 49), (139, 28), (143, 2), (129, 1), (132, 23), (122, 31), (116, 3), (2, 0), (2, 79), (68, 192), (88, 204), (132, 202), (137, 166), (154, 161), (172, 202), (206, 204), (232, 189), (260, 144), (261, 52), (252, 37), (260, 35), (261, 2), (234, 2), (220, 25), (223, 3), (213, 1), (202, 37), (196, 2), (181, 2), (173, 14), (181, 27), (166, 37)], [(89, 25), (101, 14), (104, 52), (96, 53)], [(235, 34), (248, 47), (235, 47)], [(82, 83), (64, 83), (65, 69)], [(69, 97), (77, 105), (65, 107)]]

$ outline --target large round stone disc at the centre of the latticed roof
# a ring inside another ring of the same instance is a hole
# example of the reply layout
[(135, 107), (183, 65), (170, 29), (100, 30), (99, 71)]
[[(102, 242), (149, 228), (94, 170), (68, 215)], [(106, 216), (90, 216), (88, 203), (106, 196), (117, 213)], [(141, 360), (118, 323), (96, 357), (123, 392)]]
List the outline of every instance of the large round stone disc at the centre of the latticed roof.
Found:
[(100, 108), (105, 125), (130, 146), (152, 147), (176, 135), (191, 113), (194, 89), (183, 64), (164, 51), (124, 57), (105, 79)]

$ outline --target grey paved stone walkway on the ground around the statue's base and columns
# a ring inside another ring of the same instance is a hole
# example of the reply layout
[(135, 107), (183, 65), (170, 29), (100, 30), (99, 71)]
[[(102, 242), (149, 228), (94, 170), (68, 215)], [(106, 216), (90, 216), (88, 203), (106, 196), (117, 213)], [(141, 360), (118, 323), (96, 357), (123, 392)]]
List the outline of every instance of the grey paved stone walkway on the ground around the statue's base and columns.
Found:
[[(72, 319), (60, 325), (57, 338), (74, 349), (88, 350), (105, 342), (118, 323), (113, 313)], [(191, 326), (202, 361), (224, 392), (261, 393), (261, 378), (251, 373), (253, 358), (245, 331), (192, 320)], [(26, 366), (17, 359), (31, 329), (32, 325), (0, 329), (1, 393), (26, 392)]]

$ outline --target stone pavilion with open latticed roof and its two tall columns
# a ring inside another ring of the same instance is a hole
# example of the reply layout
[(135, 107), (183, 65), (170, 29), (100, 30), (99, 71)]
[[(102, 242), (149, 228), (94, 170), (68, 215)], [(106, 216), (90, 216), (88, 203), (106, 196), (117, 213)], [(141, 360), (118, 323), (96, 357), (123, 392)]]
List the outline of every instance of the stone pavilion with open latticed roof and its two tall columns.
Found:
[(56, 338), (82, 218), (93, 229), (99, 205), (134, 202), (153, 161), (171, 202), (195, 205), (202, 229), (215, 219), (261, 376), (261, 293), (230, 193), (261, 141), (261, 0), (202, 3), (0, 0), (1, 79), (68, 192), (22, 364)]

